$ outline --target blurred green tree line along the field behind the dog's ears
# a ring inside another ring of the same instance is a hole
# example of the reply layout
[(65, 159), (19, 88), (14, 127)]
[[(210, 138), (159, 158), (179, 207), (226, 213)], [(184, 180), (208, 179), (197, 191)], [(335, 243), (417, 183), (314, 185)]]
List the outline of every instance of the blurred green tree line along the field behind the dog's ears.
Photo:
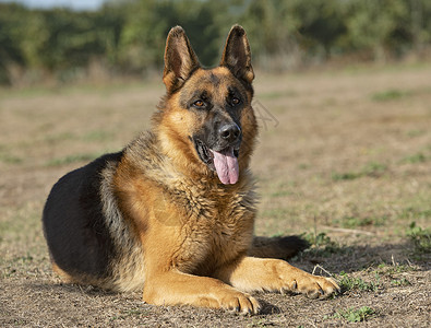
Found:
[(0, 3), (0, 84), (73, 80), (94, 66), (109, 75), (159, 69), (175, 25), (213, 66), (235, 23), (248, 32), (254, 66), (267, 70), (420, 57), (431, 45), (429, 0), (112, 0), (91, 12)]

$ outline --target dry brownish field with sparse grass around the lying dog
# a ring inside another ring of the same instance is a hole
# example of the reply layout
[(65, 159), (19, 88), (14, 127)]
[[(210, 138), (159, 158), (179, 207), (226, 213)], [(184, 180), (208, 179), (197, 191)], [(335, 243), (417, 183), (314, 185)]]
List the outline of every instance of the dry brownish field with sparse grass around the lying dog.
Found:
[(291, 263), (340, 295), (258, 294), (243, 317), (62, 284), (40, 224), (52, 184), (148, 128), (164, 86), (0, 90), (0, 326), (429, 327), (431, 65), (256, 77), (255, 232), (302, 234)]

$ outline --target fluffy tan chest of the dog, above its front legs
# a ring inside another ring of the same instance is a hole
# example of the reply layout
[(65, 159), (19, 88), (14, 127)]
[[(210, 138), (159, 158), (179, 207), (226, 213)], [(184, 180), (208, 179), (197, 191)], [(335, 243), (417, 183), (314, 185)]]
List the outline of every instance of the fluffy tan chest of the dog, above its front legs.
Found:
[(188, 212), (181, 230), (178, 265), (196, 274), (211, 274), (214, 268), (246, 253), (254, 210), (244, 203), (243, 197), (226, 197), (190, 204), (194, 210)]

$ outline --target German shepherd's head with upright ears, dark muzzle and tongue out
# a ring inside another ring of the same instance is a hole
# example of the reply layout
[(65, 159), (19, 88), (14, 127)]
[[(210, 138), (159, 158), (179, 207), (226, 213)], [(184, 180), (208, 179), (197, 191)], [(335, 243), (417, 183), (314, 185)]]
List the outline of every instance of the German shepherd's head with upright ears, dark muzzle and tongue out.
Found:
[(251, 155), (258, 126), (250, 46), (244, 30), (235, 25), (218, 67), (201, 68), (184, 31), (168, 35), (164, 83), (167, 95), (156, 117), (165, 151), (206, 175), (236, 184)]

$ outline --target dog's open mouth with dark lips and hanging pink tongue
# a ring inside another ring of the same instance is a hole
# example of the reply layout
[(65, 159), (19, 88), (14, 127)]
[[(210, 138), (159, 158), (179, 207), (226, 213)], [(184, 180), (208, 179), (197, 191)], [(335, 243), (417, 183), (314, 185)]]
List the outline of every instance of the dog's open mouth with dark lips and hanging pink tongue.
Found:
[(194, 148), (202, 162), (204, 162), (212, 171), (217, 173), (218, 178), (225, 185), (234, 185), (238, 181), (239, 149), (227, 147), (223, 150), (214, 150), (207, 147), (203, 141), (194, 139)]

